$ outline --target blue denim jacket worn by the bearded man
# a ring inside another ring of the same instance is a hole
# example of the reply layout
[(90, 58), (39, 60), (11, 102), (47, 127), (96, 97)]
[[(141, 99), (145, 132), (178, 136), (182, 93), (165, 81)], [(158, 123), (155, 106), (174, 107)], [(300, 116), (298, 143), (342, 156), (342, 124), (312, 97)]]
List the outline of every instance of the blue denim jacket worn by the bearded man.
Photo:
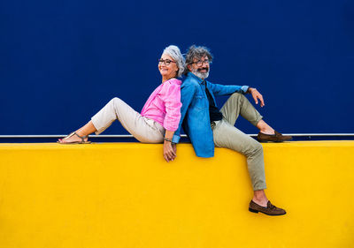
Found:
[[(227, 95), (235, 92), (245, 93), (249, 86), (222, 86), (206, 81), (206, 86), (214, 95)], [(173, 142), (180, 141), (181, 126), (189, 136), (198, 157), (209, 158), (214, 156), (214, 140), (209, 116), (209, 101), (205, 94), (203, 79), (189, 72), (181, 84), (181, 121), (174, 132)]]

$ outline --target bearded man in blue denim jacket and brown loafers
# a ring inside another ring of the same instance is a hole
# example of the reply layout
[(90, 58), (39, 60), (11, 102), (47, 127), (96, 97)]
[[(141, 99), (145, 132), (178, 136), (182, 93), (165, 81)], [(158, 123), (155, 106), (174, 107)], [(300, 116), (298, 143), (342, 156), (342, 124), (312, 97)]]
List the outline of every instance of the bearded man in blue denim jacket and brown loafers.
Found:
[[(247, 157), (250, 180), (254, 191), (250, 212), (268, 215), (286, 214), (266, 198), (266, 176), (263, 148), (255, 139), (235, 128), (238, 116), (244, 117), (259, 129), (259, 141), (281, 142), (291, 139), (266, 124), (258, 111), (243, 94), (251, 94), (263, 107), (265, 102), (256, 88), (250, 86), (222, 86), (205, 80), (209, 76), (212, 54), (205, 47), (191, 46), (186, 55), (187, 78), (181, 85), (181, 122), (174, 133), (173, 143), (180, 140), (181, 125), (200, 157), (212, 157), (214, 146), (227, 147)], [(219, 110), (214, 95), (231, 94)]]

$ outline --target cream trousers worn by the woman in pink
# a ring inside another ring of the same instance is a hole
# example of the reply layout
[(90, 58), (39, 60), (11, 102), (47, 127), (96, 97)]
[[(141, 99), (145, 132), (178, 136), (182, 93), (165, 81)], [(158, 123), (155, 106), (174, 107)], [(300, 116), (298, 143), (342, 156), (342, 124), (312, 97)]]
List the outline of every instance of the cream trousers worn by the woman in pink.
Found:
[(115, 120), (119, 120), (127, 132), (143, 143), (162, 143), (164, 140), (165, 128), (161, 124), (140, 115), (117, 97), (91, 118), (96, 134), (104, 132)]

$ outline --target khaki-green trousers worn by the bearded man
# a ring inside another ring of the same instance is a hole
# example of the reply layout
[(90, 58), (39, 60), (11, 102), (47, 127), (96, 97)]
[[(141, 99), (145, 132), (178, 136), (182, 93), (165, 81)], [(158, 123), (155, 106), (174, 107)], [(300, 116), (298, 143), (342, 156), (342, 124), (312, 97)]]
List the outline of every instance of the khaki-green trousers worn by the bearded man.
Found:
[(238, 116), (256, 125), (262, 119), (258, 111), (243, 94), (232, 94), (220, 109), (223, 119), (212, 124), (214, 144), (226, 147), (247, 158), (247, 166), (254, 191), (266, 189), (265, 162), (263, 147), (255, 139), (235, 128)]

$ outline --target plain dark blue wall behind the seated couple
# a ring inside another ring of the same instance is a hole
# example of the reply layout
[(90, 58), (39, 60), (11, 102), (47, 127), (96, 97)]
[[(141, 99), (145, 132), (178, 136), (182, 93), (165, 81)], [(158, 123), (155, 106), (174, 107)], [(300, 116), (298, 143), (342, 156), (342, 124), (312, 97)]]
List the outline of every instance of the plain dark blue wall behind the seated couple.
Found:
[(13, 0), (0, 2), (0, 134), (68, 133), (114, 96), (140, 111), (162, 49), (194, 43), (212, 49), (211, 81), (258, 88), (280, 132), (354, 132), (350, 0)]

